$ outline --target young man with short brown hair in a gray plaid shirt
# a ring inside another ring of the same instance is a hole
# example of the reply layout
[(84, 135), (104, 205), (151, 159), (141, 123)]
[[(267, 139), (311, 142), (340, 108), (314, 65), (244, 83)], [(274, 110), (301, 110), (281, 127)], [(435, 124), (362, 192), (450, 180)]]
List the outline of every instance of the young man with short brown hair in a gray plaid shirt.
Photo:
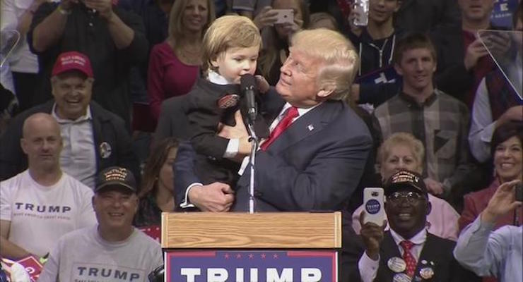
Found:
[(425, 184), (432, 194), (448, 197), (474, 168), (467, 141), (469, 110), (434, 87), (436, 53), (425, 35), (408, 35), (398, 42), (394, 68), (403, 78), (401, 92), (374, 112), (383, 137), (407, 132), (421, 140)]

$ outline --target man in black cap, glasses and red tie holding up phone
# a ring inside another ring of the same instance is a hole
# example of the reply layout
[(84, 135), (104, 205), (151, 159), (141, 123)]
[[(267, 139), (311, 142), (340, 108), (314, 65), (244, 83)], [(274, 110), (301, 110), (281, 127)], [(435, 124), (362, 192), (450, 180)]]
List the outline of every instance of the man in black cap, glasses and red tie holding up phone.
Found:
[[(341, 281), (476, 281), (452, 256), (454, 241), (427, 232), (430, 202), (423, 176), (394, 173), (384, 188), (390, 230), (363, 223), (360, 238), (343, 238)], [(351, 241), (353, 240), (353, 241)], [(362, 242), (363, 241), (363, 242)], [(350, 277), (350, 278), (349, 278)]]

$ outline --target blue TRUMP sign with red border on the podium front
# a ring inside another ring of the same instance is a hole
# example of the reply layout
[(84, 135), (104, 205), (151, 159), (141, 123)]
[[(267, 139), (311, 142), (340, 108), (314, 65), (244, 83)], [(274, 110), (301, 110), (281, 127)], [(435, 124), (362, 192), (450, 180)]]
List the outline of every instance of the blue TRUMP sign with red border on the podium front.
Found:
[(171, 251), (165, 253), (167, 281), (327, 282), (338, 281), (335, 251)]

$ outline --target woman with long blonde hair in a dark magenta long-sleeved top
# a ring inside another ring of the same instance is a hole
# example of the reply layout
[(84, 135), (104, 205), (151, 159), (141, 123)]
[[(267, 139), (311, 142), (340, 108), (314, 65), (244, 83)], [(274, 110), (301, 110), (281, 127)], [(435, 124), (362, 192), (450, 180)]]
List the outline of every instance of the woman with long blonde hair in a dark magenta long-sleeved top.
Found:
[(163, 100), (187, 94), (201, 66), (201, 41), (215, 19), (211, 0), (177, 0), (169, 16), (169, 35), (151, 51), (147, 94), (158, 121)]

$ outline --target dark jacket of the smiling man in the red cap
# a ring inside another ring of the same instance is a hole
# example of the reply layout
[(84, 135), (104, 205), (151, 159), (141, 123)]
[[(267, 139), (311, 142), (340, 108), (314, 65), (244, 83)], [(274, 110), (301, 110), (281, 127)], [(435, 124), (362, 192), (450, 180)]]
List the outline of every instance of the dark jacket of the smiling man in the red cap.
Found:
[[(16, 116), (1, 137), (0, 180), (11, 178), (28, 167), (27, 156), (20, 147), (22, 127), (25, 118), (32, 114), (51, 114), (53, 101), (35, 106)], [(96, 102), (90, 102), (93, 116), (93, 137), (95, 138), (96, 167), (102, 171), (109, 166), (122, 166), (133, 172), (136, 180), (140, 179), (139, 162), (133, 152), (131, 137), (127, 133), (124, 121), (119, 116), (103, 109)], [(100, 156), (100, 145), (107, 142), (111, 147), (109, 157)]]

